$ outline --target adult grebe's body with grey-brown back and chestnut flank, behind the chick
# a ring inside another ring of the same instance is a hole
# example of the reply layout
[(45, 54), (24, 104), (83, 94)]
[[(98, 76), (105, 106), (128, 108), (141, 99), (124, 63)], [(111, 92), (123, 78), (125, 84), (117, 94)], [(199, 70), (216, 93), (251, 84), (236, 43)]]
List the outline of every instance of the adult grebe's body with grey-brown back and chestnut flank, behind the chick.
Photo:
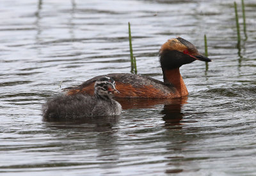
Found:
[[(140, 76), (135, 74), (107, 74), (104, 76), (112, 77), (116, 82), (116, 89), (120, 93), (116, 93), (115, 97), (121, 98), (172, 98), (175, 97), (175, 88), (170, 84), (164, 84), (157, 79), (151, 77)], [(83, 84), (73, 88), (65, 88), (68, 90), (67, 95), (76, 93), (88, 93), (93, 95), (94, 83), (99, 77), (93, 77)]]

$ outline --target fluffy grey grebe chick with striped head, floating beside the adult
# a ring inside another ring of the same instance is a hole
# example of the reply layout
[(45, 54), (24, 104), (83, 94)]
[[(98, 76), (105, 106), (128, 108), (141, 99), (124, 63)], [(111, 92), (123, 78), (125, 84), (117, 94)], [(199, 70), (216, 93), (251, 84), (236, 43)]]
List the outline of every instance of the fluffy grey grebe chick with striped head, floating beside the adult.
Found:
[(120, 115), (122, 106), (112, 99), (113, 93), (119, 93), (113, 78), (97, 79), (94, 91), (93, 96), (78, 93), (73, 96), (59, 95), (47, 100), (42, 108), (44, 120)]

